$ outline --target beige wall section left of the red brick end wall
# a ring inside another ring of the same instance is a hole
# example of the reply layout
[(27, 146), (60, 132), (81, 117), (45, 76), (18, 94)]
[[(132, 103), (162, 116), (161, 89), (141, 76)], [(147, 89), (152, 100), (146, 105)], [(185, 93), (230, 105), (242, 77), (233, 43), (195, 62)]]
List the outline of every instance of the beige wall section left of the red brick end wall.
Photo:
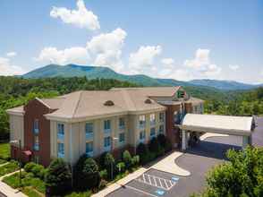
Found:
[(24, 147), (24, 118), (23, 116), (10, 115), (10, 140), (21, 140), (21, 147)]

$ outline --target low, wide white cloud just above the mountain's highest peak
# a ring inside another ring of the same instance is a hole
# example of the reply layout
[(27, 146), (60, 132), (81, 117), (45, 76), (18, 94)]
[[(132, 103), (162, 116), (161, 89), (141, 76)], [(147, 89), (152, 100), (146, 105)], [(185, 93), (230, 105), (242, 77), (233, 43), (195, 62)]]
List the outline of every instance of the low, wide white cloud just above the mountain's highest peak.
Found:
[(47, 64), (87, 64), (89, 53), (86, 47), (70, 47), (63, 50), (45, 47), (36, 59)]

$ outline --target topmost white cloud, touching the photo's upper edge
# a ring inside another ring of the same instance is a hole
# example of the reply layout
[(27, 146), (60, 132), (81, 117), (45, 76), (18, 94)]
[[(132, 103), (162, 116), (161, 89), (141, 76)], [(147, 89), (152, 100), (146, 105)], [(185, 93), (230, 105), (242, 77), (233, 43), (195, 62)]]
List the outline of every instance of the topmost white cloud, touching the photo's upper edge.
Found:
[(73, 24), (79, 28), (98, 30), (100, 28), (98, 16), (87, 10), (84, 1), (77, 1), (77, 10), (69, 10), (65, 7), (53, 7), (50, 16), (60, 18), (64, 23)]

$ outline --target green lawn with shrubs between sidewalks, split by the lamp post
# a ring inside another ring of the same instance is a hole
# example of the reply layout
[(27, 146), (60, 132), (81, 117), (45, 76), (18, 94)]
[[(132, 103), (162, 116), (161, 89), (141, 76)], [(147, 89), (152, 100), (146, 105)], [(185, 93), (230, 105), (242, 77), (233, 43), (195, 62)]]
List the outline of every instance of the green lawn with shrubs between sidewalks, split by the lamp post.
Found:
[(12, 176), (6, 176), (3, 179), (5, 184), (10, 185), (14, 189), (21, 188), (22, 193), (27, 194), (30, 197), (45, 196), (46, 186), (44, 181), (34, 177), (31, 173), (22, 172), (21, 184), (19, 181), (19, 173)]

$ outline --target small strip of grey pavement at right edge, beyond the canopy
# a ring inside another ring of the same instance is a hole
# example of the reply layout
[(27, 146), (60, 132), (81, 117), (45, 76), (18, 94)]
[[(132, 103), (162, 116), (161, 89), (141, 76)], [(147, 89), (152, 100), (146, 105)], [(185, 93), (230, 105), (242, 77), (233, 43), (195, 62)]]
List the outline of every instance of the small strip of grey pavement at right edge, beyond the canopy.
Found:
[(256, 117), (255, 131), (252, 133), (252, 144), (263, 147), (263, 117)]

